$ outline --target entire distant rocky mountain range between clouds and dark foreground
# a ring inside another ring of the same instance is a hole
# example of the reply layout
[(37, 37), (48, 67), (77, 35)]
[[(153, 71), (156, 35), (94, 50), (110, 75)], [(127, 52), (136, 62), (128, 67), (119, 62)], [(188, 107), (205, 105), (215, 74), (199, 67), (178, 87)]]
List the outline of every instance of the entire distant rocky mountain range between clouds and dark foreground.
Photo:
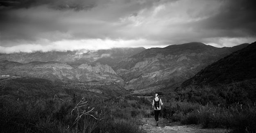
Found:
[(1, 54), (0, 73), (64, 83), (114, 83), (144, 93), (175, 88), (207, 65), (248, 45), (217, 48), (192, 42), (147, 50), (138, 47)]

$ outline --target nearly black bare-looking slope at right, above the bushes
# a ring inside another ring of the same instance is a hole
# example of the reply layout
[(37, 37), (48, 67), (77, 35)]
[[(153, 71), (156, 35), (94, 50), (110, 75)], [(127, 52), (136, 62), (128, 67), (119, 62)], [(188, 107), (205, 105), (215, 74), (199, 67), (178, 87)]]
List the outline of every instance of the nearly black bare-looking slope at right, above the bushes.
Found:
[(250, 79), (256, 79), (256, 42), (208, 65), (182, 86), (219, 86)]

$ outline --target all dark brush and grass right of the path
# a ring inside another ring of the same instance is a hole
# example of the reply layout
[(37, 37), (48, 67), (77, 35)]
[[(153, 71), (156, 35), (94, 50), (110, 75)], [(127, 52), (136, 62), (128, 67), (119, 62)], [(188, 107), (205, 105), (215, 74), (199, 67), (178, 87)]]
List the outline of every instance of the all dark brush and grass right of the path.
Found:
[(229, 128), (231, 133), (255, 133), (255, 88), (256, 80), (251, 79), (218, 87), (188, 86), (185, 90), (158, 93), (164, 103), (163, 117), (170, 122)]

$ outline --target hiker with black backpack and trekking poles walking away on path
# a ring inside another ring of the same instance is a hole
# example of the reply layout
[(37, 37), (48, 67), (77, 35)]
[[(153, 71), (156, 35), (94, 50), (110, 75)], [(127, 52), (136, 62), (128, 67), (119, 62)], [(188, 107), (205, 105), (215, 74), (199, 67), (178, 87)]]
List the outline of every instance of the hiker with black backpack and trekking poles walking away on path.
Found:
[(158, 126), (158, 117), (161, 111), (161, 106), (163, 106), (162, 100), (158, 98), (158, 94), (155, 93), (155, 98), (151, 104), (152, 108), (154, 108), (154, 115), (156, 120), (156, 126)]

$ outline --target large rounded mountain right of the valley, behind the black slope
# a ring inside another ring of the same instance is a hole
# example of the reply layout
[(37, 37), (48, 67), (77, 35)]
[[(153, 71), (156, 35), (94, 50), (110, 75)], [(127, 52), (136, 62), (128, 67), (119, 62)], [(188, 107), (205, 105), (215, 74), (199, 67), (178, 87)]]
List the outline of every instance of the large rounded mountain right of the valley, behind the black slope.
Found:
[(113, 70), (125, 80), (125, 88), (134, 93), (175, 88), (207, 65), (247, 45), (217, 48), (192, 42), (150, 48), (119, 61)]

